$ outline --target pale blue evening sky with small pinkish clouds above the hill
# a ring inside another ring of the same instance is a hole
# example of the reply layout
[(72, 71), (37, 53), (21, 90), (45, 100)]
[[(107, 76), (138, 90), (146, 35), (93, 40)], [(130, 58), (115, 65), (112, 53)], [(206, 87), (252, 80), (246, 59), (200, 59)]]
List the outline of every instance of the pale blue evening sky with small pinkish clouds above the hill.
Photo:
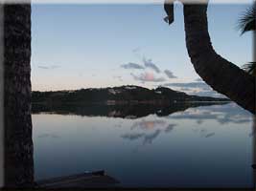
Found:
[[(236, 28), (248, 6), (208, 7), (215, 50), (238, 66), (252, 60), (252, 33)], [(171, 26), (165, 16), (162, 4), (33, 4), (33, 91), (138, 85), (220, 96), (190, 62), (182, 5)]]

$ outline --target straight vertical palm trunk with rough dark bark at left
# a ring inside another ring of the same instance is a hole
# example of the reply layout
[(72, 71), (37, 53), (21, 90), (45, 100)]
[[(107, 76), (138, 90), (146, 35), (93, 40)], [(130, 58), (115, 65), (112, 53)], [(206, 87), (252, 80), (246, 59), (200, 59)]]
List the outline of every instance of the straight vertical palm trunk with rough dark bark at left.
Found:
[(4, 5), (5, 186), (34, 182), (31, 5)]

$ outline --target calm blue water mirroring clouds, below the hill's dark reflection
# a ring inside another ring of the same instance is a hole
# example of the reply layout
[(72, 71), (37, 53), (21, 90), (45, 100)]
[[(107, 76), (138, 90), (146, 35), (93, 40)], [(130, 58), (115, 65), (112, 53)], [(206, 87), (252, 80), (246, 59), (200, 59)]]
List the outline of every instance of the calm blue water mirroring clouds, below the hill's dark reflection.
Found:
[(182, 110), (35, 114), (35, 179), (104, 169), (123, 186), (252, 187), (249, 113), (234, 103)]

